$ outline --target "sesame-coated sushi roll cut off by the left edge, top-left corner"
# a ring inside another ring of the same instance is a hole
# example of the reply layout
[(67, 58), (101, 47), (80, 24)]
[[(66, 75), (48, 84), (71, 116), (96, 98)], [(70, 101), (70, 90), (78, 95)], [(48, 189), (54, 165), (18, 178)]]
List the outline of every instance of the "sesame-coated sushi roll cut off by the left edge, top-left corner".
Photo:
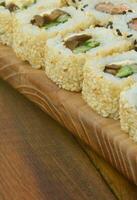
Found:
[(0, 0), (0, 43), (11, 46), (13, 13), (35, 4), (35, 0)]

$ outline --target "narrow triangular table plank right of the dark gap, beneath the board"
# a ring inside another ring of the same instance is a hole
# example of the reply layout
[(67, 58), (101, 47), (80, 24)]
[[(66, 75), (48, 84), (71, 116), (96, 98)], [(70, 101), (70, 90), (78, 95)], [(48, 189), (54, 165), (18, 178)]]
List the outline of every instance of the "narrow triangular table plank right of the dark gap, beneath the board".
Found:
[(81, 141), (79, 141), (79, 144), (119, 200), (137, 199), (136, 185), (129, 182), (87, 145)]

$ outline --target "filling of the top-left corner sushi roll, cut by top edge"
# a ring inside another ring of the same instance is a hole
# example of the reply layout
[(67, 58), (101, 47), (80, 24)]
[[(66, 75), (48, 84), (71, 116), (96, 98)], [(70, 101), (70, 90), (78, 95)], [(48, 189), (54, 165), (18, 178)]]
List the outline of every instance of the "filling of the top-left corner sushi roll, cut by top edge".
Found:
[(29, 5), (36, 3), (36, 0), (30, 1), (30, 2), (24, 2), (22, 3), (22, 5), (17, 5), (16, 3), (13, 3), (12, 1), (0, 1), (0, 6), (5, 7), (6, 9), (8, 9), (10, 12), (14, 12), (18, 9), (26, 9)]

